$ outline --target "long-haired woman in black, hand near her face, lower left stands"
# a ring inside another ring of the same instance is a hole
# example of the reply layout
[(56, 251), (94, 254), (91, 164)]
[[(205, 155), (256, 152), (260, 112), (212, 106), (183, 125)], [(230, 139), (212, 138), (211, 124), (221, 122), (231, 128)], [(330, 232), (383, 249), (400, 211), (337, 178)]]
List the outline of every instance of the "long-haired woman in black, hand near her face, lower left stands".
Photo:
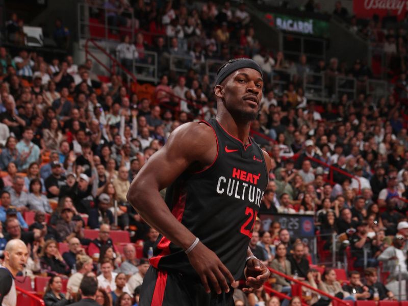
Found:
[(41, 273), (66, 277), (70, 274), (68, 265), (62, 258), (55, 240), (47, 240), (40, 253)]

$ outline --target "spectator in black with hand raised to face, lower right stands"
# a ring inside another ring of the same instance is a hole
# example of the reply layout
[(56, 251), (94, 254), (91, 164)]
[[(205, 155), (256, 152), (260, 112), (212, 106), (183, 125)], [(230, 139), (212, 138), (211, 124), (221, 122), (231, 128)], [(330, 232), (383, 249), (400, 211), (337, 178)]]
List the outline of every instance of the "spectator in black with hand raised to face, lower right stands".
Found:
[(367, 266), (376, 267), (378, 266), (378, 261), (374, 258), (372, 252), (371, 239), (367, 236), (367, 223), (365, 221), (359, 222), (357, 224), (357, 232), (351, 236), (351, 255), (356, 258), (354, 262), (354, 267), (364, 266), (364, 249), (367, 251)]

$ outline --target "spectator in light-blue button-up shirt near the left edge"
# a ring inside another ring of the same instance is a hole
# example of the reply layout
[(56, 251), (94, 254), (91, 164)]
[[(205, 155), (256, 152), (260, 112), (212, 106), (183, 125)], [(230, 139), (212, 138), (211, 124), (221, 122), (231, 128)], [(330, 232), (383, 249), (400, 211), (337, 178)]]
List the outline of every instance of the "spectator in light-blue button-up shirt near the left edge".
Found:
[(22, 133), (22, 139), (16, 145), (21, 160), (19, 171), (27, 170), (31, 163), (39, 161), (40, 148), (32, 142), (33, 137), (32, 127), (26, 126)]

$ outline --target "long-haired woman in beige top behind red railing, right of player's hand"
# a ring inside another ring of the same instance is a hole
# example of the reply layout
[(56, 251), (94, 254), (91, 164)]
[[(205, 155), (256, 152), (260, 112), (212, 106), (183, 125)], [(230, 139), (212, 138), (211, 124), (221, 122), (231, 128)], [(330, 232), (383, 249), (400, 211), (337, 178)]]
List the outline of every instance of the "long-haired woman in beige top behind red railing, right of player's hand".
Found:
[[(286, 254), (286, 246), (283, 243), (279, 243), (276, 246), (276, 255), (272, 260), (271, 268), (286, 275), (291, 275), (292, 269), (290, 261), (287, 259)], [(276, 280), (275, 283), (273, 283), (274, 290), (285, 294), (291, 293), (291, 284), (286, 280), (286, 278), (275, 274), (273, 274), (272, 277), (274, 277)], [(282, 306), (286, 306), (287, 304), (288, 302), (284, 301), (282, 303)]]

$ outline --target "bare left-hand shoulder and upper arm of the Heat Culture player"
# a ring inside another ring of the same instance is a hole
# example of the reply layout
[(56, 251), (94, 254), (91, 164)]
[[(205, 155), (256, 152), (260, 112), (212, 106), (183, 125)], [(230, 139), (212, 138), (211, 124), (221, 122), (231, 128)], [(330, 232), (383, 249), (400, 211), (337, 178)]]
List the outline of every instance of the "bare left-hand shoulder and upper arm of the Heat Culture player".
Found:
[(166, 145), (149, 158), (131, 188), (145, 184), (147, 188), (161, 190), (185, 170), (200, 170), (211, 165), (216, 155), (217, 142), (211, 127), (186, 124), (174, 131)]

